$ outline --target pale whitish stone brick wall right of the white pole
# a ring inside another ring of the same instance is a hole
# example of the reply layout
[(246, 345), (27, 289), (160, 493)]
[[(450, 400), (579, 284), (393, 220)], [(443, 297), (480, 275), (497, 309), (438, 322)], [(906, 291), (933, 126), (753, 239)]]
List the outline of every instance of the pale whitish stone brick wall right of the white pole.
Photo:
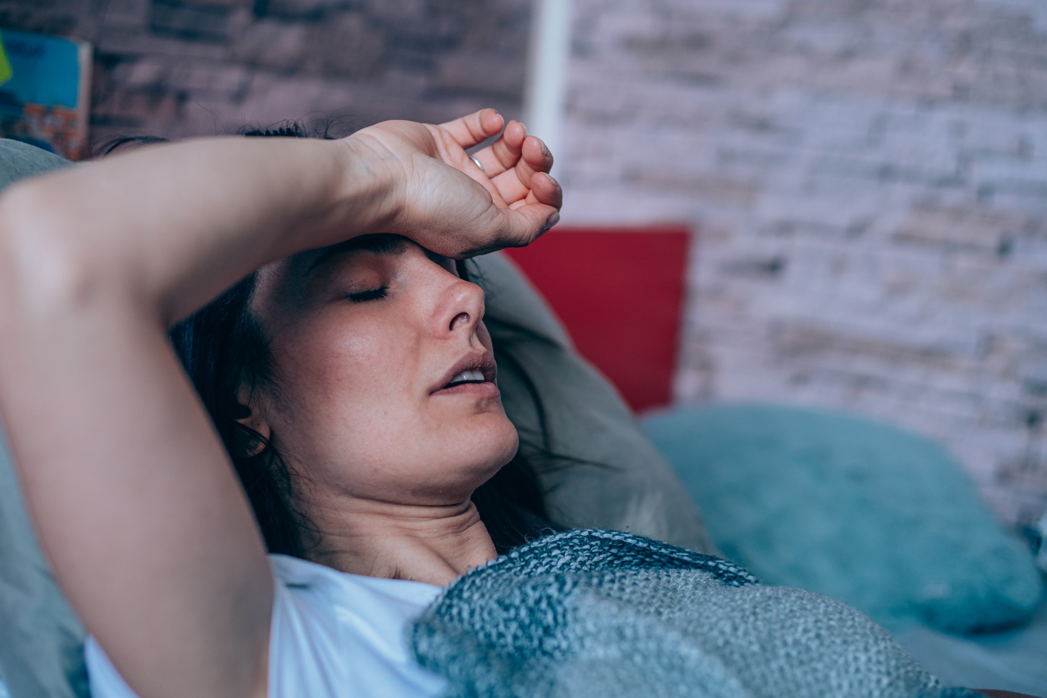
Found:
[(699, 230), (676, 393), (839, 407), (1047, 505), (1047, 4), (575, 0), (569, 222)]

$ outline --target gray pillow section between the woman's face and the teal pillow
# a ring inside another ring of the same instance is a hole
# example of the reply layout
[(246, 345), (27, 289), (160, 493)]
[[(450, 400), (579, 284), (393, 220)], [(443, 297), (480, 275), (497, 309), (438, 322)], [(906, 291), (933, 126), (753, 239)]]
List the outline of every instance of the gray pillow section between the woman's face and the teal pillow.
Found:
[(540, 443), (534, 390), (544, 406), (549, 450), (582, 461), (542, 475), (550, 514), (569, 526), (627, 531), (714, 553), (697, 506), (671, 466), (618, 391), (574, 351), (527, 278), (498, 252), (474, 263), (473, 280), (487, 293), (485, 319), (503, 403), (522, 448)]

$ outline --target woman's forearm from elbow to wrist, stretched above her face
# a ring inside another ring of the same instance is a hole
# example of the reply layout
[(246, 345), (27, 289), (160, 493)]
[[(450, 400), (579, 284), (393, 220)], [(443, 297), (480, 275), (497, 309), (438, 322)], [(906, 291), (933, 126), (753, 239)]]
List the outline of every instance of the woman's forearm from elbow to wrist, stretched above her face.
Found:
[(348, 141), (219, 138), (142, 149), (0, 199), (8, 292), (131, 296), (171, 322), (252, 269), (391, 215), (392, 179)]

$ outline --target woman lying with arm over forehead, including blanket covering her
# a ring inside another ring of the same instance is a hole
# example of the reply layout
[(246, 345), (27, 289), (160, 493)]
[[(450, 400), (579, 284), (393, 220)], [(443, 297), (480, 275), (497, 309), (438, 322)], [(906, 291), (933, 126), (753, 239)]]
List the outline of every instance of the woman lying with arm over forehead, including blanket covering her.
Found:
[[(162, 145), (0, 199), (0, 409), (96, 698), (972, 696), (710, 556), (496, 559), (545, 524), (533, 491), (473, 502), (517, 435), (452, 260), (560, 205), (521, 125), (465, 154), (502, 127)], [(198, 396), (168, 328), (230, 286), (172, 333)]]

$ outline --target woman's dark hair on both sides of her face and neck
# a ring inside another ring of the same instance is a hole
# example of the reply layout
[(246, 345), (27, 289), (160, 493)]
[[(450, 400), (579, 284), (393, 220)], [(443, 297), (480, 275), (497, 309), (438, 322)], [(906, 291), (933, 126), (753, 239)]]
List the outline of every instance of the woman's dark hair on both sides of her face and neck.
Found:
[[(279, 129), (245, 131), (243, 135), (305, 137), (306, 133), (297, 125), (284, 125)], [(458, 271), (463, 278), (469, 277), (465, 263), (458, 263)], [(310, 537), (318, 532), (294, 505), (290, 469), (272, 444), (238, 422), (249, 413), (238, 400), (241, 385), (273, 387), (268, 340), (250, 311), (254, 282), (253, 273), (241, 279), (176, 324), (170, 338), (232, 458), (269, 551), (305, 557), (311, 545)], [(502, 360), (517, 363), (510, 343), (497, 346), (496, 353)], [(558, 460), (571, 459), (549, 451), (545, 410), (534, 386), (527, 387), (539, 415), (541, 445), (526, 449), (527, 454), (521, 448), (472, 495), (498, 553), (561, 530), (545, 511), (534, 460), (541, 458), (545, 461), (543, 467), (552, 468)]]

